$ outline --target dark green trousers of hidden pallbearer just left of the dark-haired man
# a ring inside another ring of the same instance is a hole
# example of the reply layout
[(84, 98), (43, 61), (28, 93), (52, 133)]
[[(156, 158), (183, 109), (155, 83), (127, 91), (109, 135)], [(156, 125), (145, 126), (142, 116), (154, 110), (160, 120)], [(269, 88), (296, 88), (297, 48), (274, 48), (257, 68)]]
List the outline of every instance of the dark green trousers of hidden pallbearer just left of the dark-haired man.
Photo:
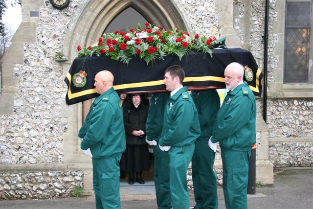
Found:
[(156, 186), (156, 203), (158, 209), (172, 209), (168, 152), (160, 150), (156, 145), (153, 148), (155, 161), (154, 181)]

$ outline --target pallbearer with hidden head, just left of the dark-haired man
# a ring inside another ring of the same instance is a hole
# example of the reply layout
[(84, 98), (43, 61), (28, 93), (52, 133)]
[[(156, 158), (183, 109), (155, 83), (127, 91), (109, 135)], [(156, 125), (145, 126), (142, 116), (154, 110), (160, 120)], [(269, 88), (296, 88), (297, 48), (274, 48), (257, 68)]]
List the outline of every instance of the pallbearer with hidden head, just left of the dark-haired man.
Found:
[(147, 143), (153, 145), (154, 181), (156, 186), (156, 204), (158, 209), (172, 209), (169, 156), (160, 150), (157, 142), (161, 137), (164, 109), (170, 93), (153, 93), (146, 122)]

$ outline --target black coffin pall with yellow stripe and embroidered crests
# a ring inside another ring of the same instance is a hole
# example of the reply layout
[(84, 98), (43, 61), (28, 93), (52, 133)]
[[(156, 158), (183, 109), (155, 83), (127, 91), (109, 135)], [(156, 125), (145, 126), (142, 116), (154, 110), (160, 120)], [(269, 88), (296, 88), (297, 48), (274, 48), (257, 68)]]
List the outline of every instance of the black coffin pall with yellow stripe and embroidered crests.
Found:
[(165, 92), (164, 71), (173, 65), (183, 67), (186, 74), (183, 85), (189, 90), (223, 89), (224, 69), (232, 62), (245, 66), (244, 80), (256, 96), (261, 96), (263, 73), (252, 54), (241, 48), (226, 48), (213, 49), (212, 57), (195, 51), (181, 60), (176, 55), (167, 55), (149, 65), (138, 56), (128, 65), (104, 55), (76, 58), (64, 79), (68, 87), (66, 102), (71, 105), (98, 96), (93, 84), (94, 76), (101, 70), (112, 72), (117, 93)]

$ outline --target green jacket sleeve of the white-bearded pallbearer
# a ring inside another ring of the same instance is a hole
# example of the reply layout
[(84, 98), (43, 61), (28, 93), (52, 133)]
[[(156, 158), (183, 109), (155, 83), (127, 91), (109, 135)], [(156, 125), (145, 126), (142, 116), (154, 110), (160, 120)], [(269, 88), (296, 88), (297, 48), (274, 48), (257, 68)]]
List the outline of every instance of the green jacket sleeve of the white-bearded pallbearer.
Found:
[(227, 139), (248, 122), (249, 118), (247, 116), (251, 115), (253, 109), (251, 100), (247, 96), (240, 96), (236, 100), (229, 104), (224, 118), (217, 120), (211, 138), (213, 143)]

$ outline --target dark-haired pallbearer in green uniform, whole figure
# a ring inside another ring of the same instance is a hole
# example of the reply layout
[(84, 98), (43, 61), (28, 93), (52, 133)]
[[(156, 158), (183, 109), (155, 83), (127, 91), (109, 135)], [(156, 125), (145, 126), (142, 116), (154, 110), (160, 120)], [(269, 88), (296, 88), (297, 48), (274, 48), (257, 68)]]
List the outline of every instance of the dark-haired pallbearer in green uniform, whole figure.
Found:
[(195, 140), (200, 136), (197, 108), (182, 86), (185, 73), (180, 66), (165, 70), (164, 83), (170, 91), (170, 98), (164, 110), (161, 138), (162, 151), (168, 151), (170, 158), (170, 189), (174, 209), (189, 209), (187, 170), (195, 150)]

